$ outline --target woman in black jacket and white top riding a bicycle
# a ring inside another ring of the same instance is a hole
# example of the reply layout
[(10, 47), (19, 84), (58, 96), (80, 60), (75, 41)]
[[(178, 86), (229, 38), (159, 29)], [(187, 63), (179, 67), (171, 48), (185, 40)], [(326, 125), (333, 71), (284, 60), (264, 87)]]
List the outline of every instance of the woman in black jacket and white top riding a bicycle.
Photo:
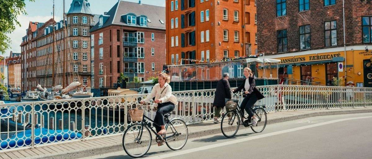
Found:
[(252, 125), (256, 126), (258, 119), (256, 116), (254, 116), (253, 111), (250, 108), (254, 105), (254, 103), (257, 102), (257, 100), (264, 98), (264, 96), (256, 88), (256, 81), (254, 80), (252, 70), (250, 68), (244, 68), (244, 76), (246, 78), (243, 80), (243, 83), (238, 88), (234, 89), (233, 93), (236, 93), (240, 90), (244, 91), (243, 97), (245, 97), (240, 104), (240, 110), (242, 110), (244, 113), (245, 109), (248, 113), (248, 120), (244, 121), (244, 126), (251, 122), (251, 118), (253, 119)]

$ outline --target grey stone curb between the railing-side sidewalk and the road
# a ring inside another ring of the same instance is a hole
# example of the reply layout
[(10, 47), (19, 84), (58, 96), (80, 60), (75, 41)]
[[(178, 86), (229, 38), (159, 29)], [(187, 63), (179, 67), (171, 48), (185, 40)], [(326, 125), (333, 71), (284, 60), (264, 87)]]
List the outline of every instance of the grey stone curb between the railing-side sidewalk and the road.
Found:
[[(315, 117), (315, 116), (328, 116), (328, 115), (338, 115), (338, 114), (356, 114), (356, 113), (372, 113), (371, 108), (363, 108), (360, 110), (353, 110), (353, 109), (344, 109), (344, 110), (328, 110), (323, 112), (314, 112), (314, 113), (308, 113), (308, 114), (301, 114), (301, 115), (294, 115), (289, 117), (282, 117), (282, 118), (276, 118), (276, 119), (269, 119), (267, 120), (267, 124), (275, 124), (275, 123), (281, 123), (285, 121), (291, 121), (291, 120), (297, 120), (297, 119), (304, 119), (308, 117)], [(250, 127), (244, 127), (241, 126), (239, 129), (249, 129)], [(204, 130), (200, 132), (192, 132), (189, 133), (189, 139), (196, 138), (196, 137), (202, 137), (202, 136), (208, 136), (212, 134), (218, 134), (221, 133), (221, 128), (218, 127), (218, 129), (209, 129)], [(121, 134), (118, 134), (121, 135)], [(153, 140), (152, 145), (155, 145), (156, 142)], [(94, 149), (82, 149), (82, 150), (76, 150), (75, 152), (68, 152), (68, 153), (60, 153), (60, 154), (53, 154), (53, 155), (44, 155), (44, 156), (35, 156), (28, 159), (76, 159), (76, 158), (82, 158), (82, 157), (88, 157), (88, 156), (94, 156), (104, 153), (110, 153), (110, 152), (117, 152), (117, 151), (124, 151), (122, 144), (113, 145), (113, 146), (102, 146)]]

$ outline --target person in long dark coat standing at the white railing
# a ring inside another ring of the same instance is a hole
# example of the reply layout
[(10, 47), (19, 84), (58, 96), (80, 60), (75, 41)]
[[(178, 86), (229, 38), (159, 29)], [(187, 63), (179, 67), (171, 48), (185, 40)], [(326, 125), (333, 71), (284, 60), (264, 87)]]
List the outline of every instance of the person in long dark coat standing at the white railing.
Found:
[(231, 99), (230, 83), (228, 81), (229, 74), (224, 73), (224, 76), (217, 83), (216, 92), (214, 93), (214, 123), (219, 123), (218, 118), (221, 116), (221, 110), (225, 107), (225, 98)]

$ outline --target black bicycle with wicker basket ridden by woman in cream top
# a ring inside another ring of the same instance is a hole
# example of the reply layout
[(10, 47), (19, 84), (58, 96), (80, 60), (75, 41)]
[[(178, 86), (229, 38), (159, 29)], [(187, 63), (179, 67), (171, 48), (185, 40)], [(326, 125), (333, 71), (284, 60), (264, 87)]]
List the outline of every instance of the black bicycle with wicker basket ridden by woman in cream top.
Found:
[[(158, 124), (144, 114), (145, 109), (148, 108), (148, 104), (149, 103), (144, 104), (145, 108), (141, 107), (128, 110), (129, 119), (132, 121), (138, 121), (138, 123), (132, 124), (125, 130), (122, 142), (125, 152), (132, 158), (144, 156), (150, 149), (153, 140), (151, 132), (155, 134), (155, 141), (157, 143), (165, 142), (172, 150), (182, 149), (183, 146), (186, 145), (187, 138), (189, 137), (185, 121), (181, 119), (169, 120), (168, 117), (170, 117), (171, 114), (164, 114), (164, 121), (166, 124), (165, 129), (167, 133), (158, 135), (151, 127), (151, 123), (156, 125)], [(148, 110), (148, 112), (151, 111), (152, 108)]]

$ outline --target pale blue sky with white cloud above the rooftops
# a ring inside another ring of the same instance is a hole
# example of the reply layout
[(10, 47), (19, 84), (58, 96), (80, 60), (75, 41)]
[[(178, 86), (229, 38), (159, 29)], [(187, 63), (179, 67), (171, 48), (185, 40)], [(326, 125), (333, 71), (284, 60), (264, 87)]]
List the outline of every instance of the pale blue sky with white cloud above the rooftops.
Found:
[[(65, 0), (65, 12), (70, 9), (70, 4), (73, 0)], [(124, 0), (138, 3), (139, 0)], [(90, 3), (90, 10), (93, 14), (103, 14), (108, 12), (118, 0), (88, 0)], [(18, 21), (21, 26), (16, 26), (13, 33), (8, 34), (11, 42), (11, 48), (1, 56), (9, 56), (10, 51), (20, 53), (20, 44), (22, 37), (26, 35), (26, 29), (30, 21), (32, 22), (46, 22), (53, 17), (53, 0), (35, 0), (35, 2), (25, 1), (27, 15), (20, 15)], [(150, 4), (155, 6), (165, 7), (165, 0), (141, 0), (142, 4)], [(63, 14), (63, 0), (54, 0), (55, 10), (54, 18), (58, 22), (62, 19)]]

